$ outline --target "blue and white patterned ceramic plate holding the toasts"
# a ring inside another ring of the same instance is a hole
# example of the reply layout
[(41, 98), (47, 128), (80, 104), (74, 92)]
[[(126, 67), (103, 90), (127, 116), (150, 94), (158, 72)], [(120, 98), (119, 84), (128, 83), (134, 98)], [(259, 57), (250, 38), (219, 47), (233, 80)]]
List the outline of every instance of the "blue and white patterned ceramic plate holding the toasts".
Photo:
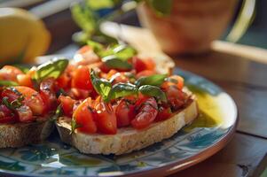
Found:
[(196, 94), (200, 116), (171, 138), (122, 156), (83, 155), (55, 132), (41, 144), (0, 150), (0, 173), (23, 176), (111, 176), (175, 173), (210, 157), (232, 138), (237, 107), (231, 96), (193, 73), (176, 70)]

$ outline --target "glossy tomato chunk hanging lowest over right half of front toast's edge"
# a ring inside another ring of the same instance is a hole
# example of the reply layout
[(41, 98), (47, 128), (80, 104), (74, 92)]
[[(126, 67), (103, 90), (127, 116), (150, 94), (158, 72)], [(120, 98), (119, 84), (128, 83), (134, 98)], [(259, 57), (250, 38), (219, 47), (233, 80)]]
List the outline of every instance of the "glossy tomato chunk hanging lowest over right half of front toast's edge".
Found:
[(138, 113), (135, 119), (130, 122), (132, 127), (137, 129), (148, 127), (158, 114), (156, 100), (153, 97), (147, 98), (142, 102), (137, 102), (136, 107), (139, 109), (137, 110)]

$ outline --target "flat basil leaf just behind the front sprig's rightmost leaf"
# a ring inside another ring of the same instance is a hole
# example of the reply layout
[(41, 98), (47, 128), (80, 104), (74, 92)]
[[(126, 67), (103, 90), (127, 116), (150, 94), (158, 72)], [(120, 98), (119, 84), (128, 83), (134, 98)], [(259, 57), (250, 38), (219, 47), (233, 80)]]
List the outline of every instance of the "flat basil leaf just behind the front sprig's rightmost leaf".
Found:
[(154, 74), (151, 76), (144, 76), (140, 77), (135, 84), (137, 87), (143, 86), (143, 85), (152, 85), (152, 86), (161, 86), (165, 78), (167, 77), (167, 74)]

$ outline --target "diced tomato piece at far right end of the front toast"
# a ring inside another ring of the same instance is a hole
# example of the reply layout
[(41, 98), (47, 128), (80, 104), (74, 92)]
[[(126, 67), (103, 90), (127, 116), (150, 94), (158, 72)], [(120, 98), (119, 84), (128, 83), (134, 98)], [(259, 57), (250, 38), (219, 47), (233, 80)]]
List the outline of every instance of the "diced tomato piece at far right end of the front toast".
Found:
[(185, 93), (181, 89), (177, 89), (177, 86), (170, 86), (166, 90), (166, 96), (169, 104), (175, 111), (185, 104)]

